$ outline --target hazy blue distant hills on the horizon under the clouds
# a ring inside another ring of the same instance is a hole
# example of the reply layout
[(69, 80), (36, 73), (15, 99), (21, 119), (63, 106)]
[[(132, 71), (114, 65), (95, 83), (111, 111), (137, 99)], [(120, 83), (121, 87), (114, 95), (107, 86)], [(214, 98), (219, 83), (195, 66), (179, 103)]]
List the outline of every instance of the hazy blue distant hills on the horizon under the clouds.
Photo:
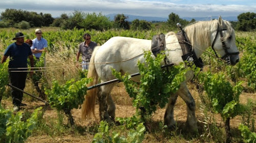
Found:
[[(105, 15), (106, 17), (110, 17), (110, 20), (114, 20), (115, 13)], [(146, 20), (146, 21), (167, 21), (168, 17), (152, 17), (152, 16), (138, 16), (138, 15), (130, 15), (130, 14), (124, 14), (125, 16), (128, 16), (128, 21), (133, 21), (135, 19), (139, 20)], [(182, 19), (185, 19), (187, 21), (190, 21), (191, 19), (195, 19), (197, 21), (205, 21), (205, 20), (211, 20), (211, 19), (218, 19), (219, 16), (208, 16), (208, 17), (181, 17)], [(227, 21), (237, 21), (237, 16), (224, 16), (222, 19)]]

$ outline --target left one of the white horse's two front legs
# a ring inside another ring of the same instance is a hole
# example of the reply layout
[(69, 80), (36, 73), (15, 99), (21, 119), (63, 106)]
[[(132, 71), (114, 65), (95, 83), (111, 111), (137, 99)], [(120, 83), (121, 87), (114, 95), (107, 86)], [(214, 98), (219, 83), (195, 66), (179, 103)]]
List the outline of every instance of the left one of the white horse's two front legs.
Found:
[(174, 120), (174, 105), (177, 101), (177, 97), (177, 93), (170, 96), (167, 108), (164, 113), (164, 125), (167, 125), (169, 128), (175, 127), (176, 124)]

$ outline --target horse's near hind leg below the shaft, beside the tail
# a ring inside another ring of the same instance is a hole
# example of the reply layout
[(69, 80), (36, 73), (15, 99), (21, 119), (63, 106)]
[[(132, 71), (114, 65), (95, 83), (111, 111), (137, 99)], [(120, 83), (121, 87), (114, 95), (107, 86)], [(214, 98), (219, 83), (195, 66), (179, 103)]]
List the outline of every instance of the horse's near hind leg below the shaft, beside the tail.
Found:
[(100, 90), (98, 92), (99, 117), (100, 117), (100, 120), (104, 120), (108, 123), (113, 123), (113, 121), (110, 119), (110, 115), (108, 113), (108, 104), (106, 102), (112, 88), (113, 88), (113, 85), (111, 84), (103, 85), (102, 87), (100, 87)]

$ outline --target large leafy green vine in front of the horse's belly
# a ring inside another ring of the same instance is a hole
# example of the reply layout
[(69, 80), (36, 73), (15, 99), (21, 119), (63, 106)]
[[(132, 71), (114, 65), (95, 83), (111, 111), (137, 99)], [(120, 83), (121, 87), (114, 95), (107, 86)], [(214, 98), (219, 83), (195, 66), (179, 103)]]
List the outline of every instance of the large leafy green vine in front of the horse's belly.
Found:
[[(117, 73), (113, 69), (114, 75), (123, 81), (125, 90), (130, 97), (133, 97), (133, 105), (141, 110), (141, 115), (152, 115), (157, 106), (163, 108), (168, 102), (172, 93), (177, 92), (181, 82), (185, 80), (185, 73), (188, 69), (184, 65), (175, 65), (169, 67), (169, 72), (161, 69), (161, 62), (164, 59), (163, 54), (158, 54), (156, 59), (151, 56), (151, 52), (144, 54), (145, 63), (138, 62), (139, 73), (141, 75), (141, 84), (129, 80), (131, 75)], [(144, 117), (142, 117), (144, 118)]]

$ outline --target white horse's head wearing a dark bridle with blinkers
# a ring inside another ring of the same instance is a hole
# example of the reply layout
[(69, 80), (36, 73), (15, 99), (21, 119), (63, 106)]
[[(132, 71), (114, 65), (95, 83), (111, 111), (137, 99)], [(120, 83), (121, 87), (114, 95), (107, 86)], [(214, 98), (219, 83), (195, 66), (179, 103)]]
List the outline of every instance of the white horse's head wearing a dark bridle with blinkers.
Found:
[(211, 33), (211, 48), (221, 55), (221, 59), (230, 65), (236, 65), (239, 62), (239, 51), (236, 46), (234, 30), (228, 21), (219, 17), (216, 29)]

